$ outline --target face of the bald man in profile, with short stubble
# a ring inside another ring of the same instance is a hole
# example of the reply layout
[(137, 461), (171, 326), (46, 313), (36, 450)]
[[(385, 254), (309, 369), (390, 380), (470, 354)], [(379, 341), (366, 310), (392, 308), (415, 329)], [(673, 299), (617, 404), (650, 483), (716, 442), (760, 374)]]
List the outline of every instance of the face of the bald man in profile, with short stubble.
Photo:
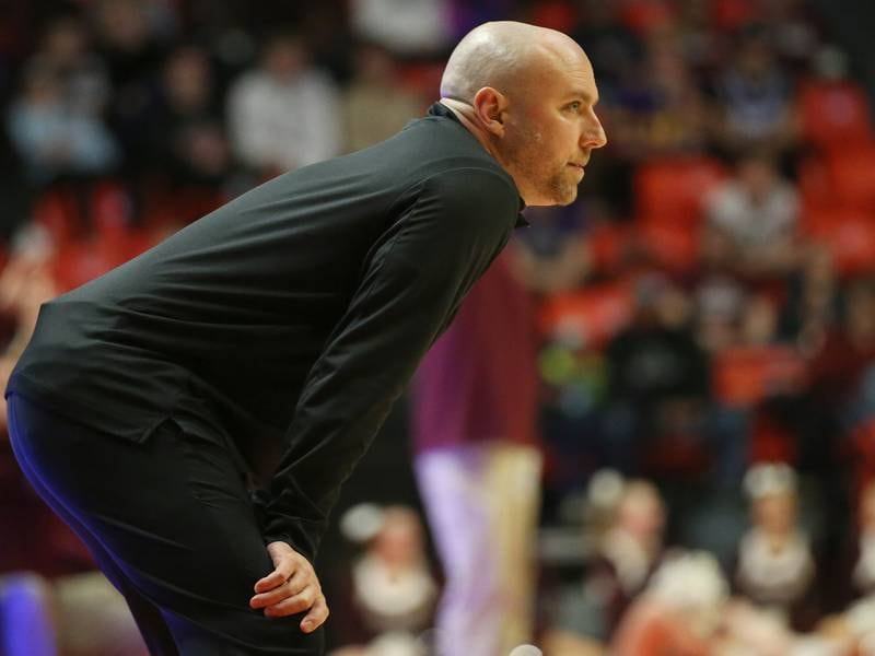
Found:
[(595, 114), (598, 91), (582, 51), (544, 54), (510, 95), (506, 166), (529, 206), (570, 204), (593, 149), (607, 143)]

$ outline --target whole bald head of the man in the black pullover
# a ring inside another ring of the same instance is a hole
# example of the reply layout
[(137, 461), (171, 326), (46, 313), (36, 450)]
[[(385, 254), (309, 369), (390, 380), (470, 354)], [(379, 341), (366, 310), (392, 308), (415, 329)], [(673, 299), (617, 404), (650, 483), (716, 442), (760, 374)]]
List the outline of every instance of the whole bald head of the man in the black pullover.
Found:
[(527, 204), (568, 204), (606, 137), (583, 49), (555, 30), (497, 22), (476, 27), (441, 80), (448, 107), (513, 177)]

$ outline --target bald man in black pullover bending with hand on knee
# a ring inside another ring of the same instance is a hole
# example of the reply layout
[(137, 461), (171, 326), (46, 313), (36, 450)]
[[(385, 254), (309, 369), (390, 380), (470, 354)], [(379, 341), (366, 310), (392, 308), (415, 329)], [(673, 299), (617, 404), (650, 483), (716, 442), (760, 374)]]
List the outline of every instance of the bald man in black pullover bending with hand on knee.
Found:
[(571, 202), (605, 143), (556, 32), (478, 27), (442, 93), (40, 308), (11, 442), (153, 654), (322, 653), (340, 485), (524, 204)]

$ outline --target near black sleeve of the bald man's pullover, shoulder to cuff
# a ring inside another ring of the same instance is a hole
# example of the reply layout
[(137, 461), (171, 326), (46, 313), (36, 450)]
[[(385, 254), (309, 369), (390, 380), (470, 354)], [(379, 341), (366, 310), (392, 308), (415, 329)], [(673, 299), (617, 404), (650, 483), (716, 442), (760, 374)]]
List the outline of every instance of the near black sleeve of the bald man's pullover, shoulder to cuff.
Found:
[(508, 242), (516, 190), (494, 172), (422, 183), (374, 245), (359, 286), (311, 370), (264, 495), (266, 541), (313, 560), (342, 482), (417, 364)]

